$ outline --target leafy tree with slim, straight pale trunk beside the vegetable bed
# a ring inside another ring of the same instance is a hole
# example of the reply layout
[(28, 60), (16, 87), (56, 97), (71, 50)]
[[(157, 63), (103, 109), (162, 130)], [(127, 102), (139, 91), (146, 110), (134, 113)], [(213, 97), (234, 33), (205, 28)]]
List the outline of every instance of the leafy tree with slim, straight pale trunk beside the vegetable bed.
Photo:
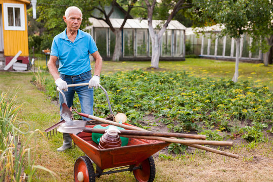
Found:
[(219, 23), (224, 25), (221, 35), (229, 35), (236, 41), (236, 61), (235, 73), (232, 78), (234, 82), (238, 81), (239, 76), (239, 51), (240, 38), (248, 32), (248, 16), (247, 6), (245, 0), (223, 0), (223, 1), (209, 1), (202, 2), (194, 0), (193, 10), (197, 13), (197, 17), (201, 21), (208, 23)]

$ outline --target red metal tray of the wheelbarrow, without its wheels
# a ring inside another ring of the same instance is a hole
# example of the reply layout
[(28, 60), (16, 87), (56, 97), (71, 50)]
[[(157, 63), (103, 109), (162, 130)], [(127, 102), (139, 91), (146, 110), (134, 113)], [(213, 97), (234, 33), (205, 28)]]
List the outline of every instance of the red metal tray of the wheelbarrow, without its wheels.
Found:
[[(128, 123), (124, 123), (129, 126)], [(108, 124), (101, 124), (108, 126)], [(94, 127), (96, 125), (87, 125)], [(157, 140), (129, 138), (127, 146), (110, 149), (99, 149), (98, 144), (92, 141), (92, 133), (80, 132), (70, 134), (75, 144), (101, 169), (121, 167), (126, 165), (139, 164), (170, 143)]]

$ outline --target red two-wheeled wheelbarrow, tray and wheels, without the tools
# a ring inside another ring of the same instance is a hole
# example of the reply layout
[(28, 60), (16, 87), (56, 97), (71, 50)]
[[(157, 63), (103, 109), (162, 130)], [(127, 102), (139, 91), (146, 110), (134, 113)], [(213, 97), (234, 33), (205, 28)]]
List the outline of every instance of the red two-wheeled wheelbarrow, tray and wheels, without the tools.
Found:
[[(102, 124), (102, 126), (107, 125)], [(93, 128), (94, 126), (88, 125), (86, 127)], [(86, 155), (79, 157), (75, 162), (75, 181), (96, 181), (96, 177), (101, 175), (123, 171), (133, 172), (138, 181), (153, 181), (155, 163), (152, 155), (170, 144), (157, 140), (130, 138), (127, 146), (99, 149), (98, 145), (92, 141), (92, 133), (80, 132), (77, 135), (70, 134), (70, 136)], [(96, 173), (90, 159), (97, 165)], [(104, 169), (115, 167), (116, 169), (103, 172)]]

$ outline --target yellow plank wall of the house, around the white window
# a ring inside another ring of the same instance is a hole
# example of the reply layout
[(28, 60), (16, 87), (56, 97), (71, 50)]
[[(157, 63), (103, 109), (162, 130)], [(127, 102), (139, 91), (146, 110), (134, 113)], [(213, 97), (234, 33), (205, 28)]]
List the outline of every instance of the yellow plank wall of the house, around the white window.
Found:
[(4, 10), (3, 3), (13, 4), (24, 4), (20, 1), (14, 0), (0, 0), (2, 6), (2, 17), (3, 17), (3, 35), (4, 35), (4, 55), (15, 56), (18, 51), (22, 51), (20, 56), (29, 56), (28, 52), (28, 35), (27, 35), (27, 13), (26, 4), (24, 4), (24, 15), (25, 15), (25, 30), (5, 30), (4, 28)]

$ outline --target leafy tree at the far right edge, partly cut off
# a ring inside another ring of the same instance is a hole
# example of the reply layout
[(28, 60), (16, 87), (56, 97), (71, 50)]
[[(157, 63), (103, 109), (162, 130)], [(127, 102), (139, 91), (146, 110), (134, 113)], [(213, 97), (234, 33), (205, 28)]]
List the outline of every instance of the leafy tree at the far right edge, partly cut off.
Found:
[(264, 53), (263, 63), (265, 66), (271, 63), (273, 47), (273, 1), (257, 0), (248, 6), (248, 18), (253, 45), (259, 46)]

